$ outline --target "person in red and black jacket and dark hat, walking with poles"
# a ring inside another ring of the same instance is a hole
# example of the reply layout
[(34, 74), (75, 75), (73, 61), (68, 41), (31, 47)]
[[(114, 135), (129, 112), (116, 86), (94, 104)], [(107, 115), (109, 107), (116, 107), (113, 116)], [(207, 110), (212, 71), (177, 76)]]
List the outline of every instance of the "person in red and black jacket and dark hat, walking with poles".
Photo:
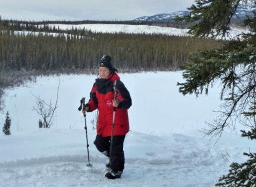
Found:
[[(106, 165), (109, 172), (105, 175), (109, 179), (121, 178), (124, 170), (124, 139), (126, 133), (129, 132), (127, 109), (132, 105), (130, 93), (121, 82), (117, 72), (117, 69), (112, 67), (111, 57), (103, 55), (99, 63), (99, 78), (96, 79), (90, 93), (90, 99), (82, 111), (85, 113), (99, 110), (94, 145), (96, 145), (97, 150), (109, 158), (109, 163)], [(116, 92), (114, 92), (115, 90)], [(114, 107), (116, 107), (116, 112), (111, 151)]]

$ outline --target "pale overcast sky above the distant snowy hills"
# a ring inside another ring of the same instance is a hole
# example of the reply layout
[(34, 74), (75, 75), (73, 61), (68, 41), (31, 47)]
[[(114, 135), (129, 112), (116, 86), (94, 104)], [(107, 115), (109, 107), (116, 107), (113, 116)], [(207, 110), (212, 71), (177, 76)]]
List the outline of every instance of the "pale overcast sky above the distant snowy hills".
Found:
[(0, 0), (2, 19), (132, 20), (184, 11), (194, 0)]

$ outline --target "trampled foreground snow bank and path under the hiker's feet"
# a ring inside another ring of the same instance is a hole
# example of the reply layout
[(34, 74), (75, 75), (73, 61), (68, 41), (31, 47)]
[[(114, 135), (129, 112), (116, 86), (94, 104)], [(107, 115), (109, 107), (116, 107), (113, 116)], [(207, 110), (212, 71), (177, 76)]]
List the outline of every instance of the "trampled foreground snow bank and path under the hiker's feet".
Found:
[(92, 168), (86, 166), (83, 130), (42, 129), (1, 137), (1, 144), (8, 146), (0, 148), (7, 156), (0, 156), (6, 160), (0, 163), (0, 186), (214, 186), (232, 158), (239, 159), (243, 146), (250, 146), (250, 141), (227, 146), (220, 140), (224, 148), (185, 135), (130, 132), (124, 147), (126, 168), (113, 181), (104, 177), (107, 159), (93, 145), (94, 133), (89, 133)]

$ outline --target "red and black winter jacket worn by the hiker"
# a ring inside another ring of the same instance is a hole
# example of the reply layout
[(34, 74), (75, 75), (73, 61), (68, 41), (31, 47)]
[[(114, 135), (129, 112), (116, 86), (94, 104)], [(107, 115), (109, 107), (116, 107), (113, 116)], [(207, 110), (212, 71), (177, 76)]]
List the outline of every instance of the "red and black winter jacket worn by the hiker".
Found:
[(96, 79), (90, 93), (90, 100), (86, 104), (89, 107), (88, 112), (92, 112), (98, 108), (99, 117), (97, 123), (97, 135), (102, 137), (110, 137), (112, 130), (112, 120), (114, 107), (112, 100), (114, 99), (114, 82), (116, 81), (117, 100), (119, 105), (116, 108), (114, 136), (126, 135), (129, 132), (129, 118), (127, 109), (132, 105), (130, 93), (121, 82), (116, 73), (112, 73), (107, 79)]

